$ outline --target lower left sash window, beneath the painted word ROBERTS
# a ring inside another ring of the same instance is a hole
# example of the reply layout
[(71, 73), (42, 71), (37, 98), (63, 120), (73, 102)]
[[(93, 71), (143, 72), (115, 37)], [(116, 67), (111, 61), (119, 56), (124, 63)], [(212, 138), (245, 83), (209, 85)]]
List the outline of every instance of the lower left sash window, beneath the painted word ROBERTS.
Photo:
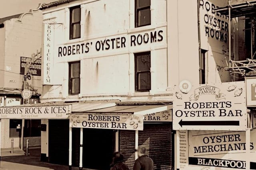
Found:
[(68, 63), (69, 70), (69, 94), (75, 95), (80, 93), (80, 61)]

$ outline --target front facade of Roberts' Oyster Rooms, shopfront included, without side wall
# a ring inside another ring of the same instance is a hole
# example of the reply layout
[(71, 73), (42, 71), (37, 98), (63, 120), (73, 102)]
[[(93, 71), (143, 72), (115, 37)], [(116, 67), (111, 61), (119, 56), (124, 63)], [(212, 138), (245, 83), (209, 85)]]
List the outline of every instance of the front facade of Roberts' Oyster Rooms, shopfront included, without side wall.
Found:
[[(48, 129), (42, 134), (42, 157), (51, 163), (107, 169), (112, 153), (120, 150), (132, 169), (134, 149), (143, 144), (149, 147), (156, 169), (174, 167), (170, 82), (175, 79), (171, 74), (175, 64), (169, 64), (173, 60), (169, 53), (177, 42), (170, 41), (169, 49), (168, 36), (176, 36), (172, 8), (166, 0), (42, 5), (40, 99), (44, 104), (72, 104), (69, 119), (43, 121)], [(95, 103), (114, 105), (86, 108)], [(76, 104), (80, 111), (73, 107)], [(120, 123), (127, 115), (134, 121)], [(98, 154), (100, 163), (95, 160)]]

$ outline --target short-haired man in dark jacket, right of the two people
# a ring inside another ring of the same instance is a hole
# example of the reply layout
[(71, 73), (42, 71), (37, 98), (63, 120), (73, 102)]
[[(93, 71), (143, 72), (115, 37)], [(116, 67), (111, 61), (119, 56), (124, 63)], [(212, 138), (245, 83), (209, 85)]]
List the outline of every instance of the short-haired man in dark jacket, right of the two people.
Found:
[(148, 147), (141, 145), (136, 151), (139, 158), (135, 160), (133, 170), (153, 170), (154, 162), (148, 157)]

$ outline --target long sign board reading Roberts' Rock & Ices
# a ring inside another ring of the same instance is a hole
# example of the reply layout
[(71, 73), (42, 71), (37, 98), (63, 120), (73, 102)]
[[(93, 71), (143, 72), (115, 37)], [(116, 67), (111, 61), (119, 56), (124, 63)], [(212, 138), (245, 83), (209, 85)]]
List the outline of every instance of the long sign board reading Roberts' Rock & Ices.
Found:
[(0, 119), (67, 119), (69, 106), (0, 107)]

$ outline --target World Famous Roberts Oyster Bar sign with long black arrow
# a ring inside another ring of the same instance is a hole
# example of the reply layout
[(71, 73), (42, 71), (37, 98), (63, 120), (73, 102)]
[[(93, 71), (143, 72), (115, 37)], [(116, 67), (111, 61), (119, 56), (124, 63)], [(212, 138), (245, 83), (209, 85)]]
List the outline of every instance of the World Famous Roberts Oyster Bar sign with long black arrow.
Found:
[(247, 113), (244, 82), (192, 86), (175, 90), (175, 130), (245, 130)]

